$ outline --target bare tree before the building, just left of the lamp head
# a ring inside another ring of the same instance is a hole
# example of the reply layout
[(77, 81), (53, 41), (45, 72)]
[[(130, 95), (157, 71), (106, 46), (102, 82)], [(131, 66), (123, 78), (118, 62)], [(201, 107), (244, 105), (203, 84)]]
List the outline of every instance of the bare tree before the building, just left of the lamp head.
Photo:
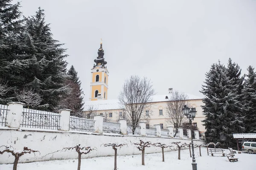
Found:
[(169, 97), (169, 101), (166, 102), (166, 122), (169, 125), (174, 125), (177, 134), (178, 128), (186, 121), (184, 114), (182, 113), (183, 105), (189, 105), (187, 102), (187, 95), (174, 91)]

